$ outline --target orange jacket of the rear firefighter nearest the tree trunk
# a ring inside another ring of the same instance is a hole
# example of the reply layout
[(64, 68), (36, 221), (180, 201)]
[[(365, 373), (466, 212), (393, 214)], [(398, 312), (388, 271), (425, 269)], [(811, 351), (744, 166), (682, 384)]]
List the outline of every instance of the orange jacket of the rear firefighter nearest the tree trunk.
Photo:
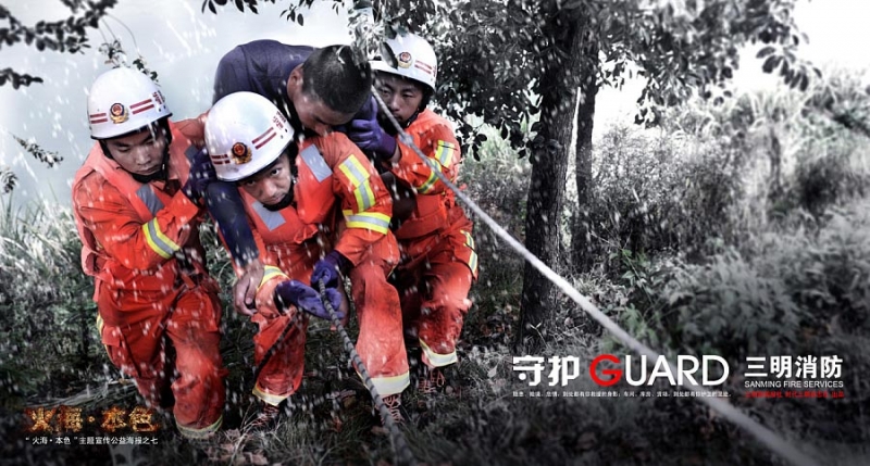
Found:
[[(407, 129), (414, 144), (423, 151), (435, 166), (453, 181), (461, 161), (450, 123), (433, 111), (425, 109)], [(437, 231), (447, 225), (447, 212), (456, 205), (453, 191), (433, 173), (408, 146), (399, 143), (401, 156), (391, 168), (397, 178), (417, 189), (417, 207), (410, 218), (396, 231), (399, 240), (418, 238)]]

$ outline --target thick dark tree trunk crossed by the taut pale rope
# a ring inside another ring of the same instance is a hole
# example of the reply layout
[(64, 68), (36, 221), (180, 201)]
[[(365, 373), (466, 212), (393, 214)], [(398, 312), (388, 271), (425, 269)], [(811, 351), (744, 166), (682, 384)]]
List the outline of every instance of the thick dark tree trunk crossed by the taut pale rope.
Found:
[[(525, 218), (525, 247), (540, 261), (559, 269), (559, 235), (564, 204), (568, 155), (573, 130), (581, 56), (581, 27), (576, 20), (558, 15), (546, 27), (549, 37), (562, 37), (560, 49), (545, 63), (537, 92), (542, 97), (540, 129), (532, 148), (532, 179)], [(532, 265), (523, 274), (520, 328), (515, 345), (527, 352), (542, 347), (551, 332), (557, 308), (554, 285)]]

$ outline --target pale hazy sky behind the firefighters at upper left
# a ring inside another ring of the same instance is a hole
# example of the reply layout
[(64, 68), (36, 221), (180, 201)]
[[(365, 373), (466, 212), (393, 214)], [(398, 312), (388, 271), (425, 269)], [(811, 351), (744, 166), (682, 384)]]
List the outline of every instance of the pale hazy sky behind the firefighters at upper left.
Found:
[[(214, 15), (201, 12), (201, 0), (121, 0), (100, 30), (121, 39), (129, 61), (136, 58), (138, 46), (148, 66), (159, 74), (173, 119), (196, 116), (209, 108), (217, 61), (239, 43), (276, 39), (326, 46), (350, 39), (347, 13), (336, 13), (332, 1), (320, 2), (306, 13), (304, 28), (282, 18), (281, 5), (264, 3), (258, 9), (260, 14), (243, 14), (232, 3)], [(59, 0), (18, 1), (8, 8), (29, 25), (69, 16)], [(52, 16), (45, 17), (45, 12)], [(96, 49), (102, 42), (100, 33), (88, 30)], [(12, 166), (18, 176), (15, 204), (38, 199), (70, 203), (72, 178), (94, 143), (86, 118), (87, 90), (100, 73), (111, 68), (103, 62), (97, 50), (73, 55), (39, 53), (25, 46), (0, 49), (0, 67), (12, 66), (46, 80), (17, 91), (8, 85), (0, 87), (0, 165)], [(58, 151), (64, 161), (47, 168), (10, 134), (34, 138), (42, 148)]]

